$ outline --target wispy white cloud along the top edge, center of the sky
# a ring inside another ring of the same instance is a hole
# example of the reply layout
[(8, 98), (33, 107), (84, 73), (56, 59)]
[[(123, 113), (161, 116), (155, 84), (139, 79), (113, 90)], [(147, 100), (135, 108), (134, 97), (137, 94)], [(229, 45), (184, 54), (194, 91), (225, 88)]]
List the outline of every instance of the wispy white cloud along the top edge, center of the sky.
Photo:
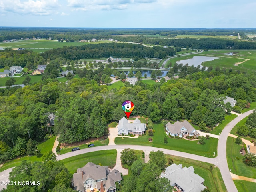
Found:
[(132, 4), (153, 3), (158, 0), (67, 0), (72, 10), (114, 10), (126, 9)]

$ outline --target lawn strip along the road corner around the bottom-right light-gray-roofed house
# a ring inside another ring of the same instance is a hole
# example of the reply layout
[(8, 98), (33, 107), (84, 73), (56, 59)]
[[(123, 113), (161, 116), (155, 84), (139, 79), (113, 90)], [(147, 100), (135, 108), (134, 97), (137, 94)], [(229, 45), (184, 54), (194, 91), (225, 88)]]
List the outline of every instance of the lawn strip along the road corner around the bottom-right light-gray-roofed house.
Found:
[(219, 168), (214, 167), (213, 164), (172, 155), (166, 155), (166, 158), (172, 158), (174, 160), (174, 163), (176, 163), (177, 165), (182, 164), (183, 167), (193, 166), (195, 169), (194, 173), (205, 179), (204, 185), (207, 186), (211, 192), (227, 191), (226, 186), (222, 180)]

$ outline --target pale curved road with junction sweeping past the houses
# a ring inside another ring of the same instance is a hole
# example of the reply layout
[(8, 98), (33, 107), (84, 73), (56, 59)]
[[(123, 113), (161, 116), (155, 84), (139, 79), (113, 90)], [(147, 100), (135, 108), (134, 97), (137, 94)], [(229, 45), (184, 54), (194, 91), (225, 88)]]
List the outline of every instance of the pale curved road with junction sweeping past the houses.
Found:
[[(222, 130), (222, 132), (220, 134), (220, 138), (218, 141), (218, 156), (216, 158), (208, 158), (208, 157), (198, 156), (198, 155), (189, 154), (189, 153), (185, 153), (185, 152), (150, 147), (150, 146), (108, 145), (108, 146), (98, 146), (98, 147), (81, 149), (79, 151), (74, 151), (74, 152), (68, 152), (66, 154), (57, 156), (57, 160), (63, 160), (63, 159), (66, 159), (66, 158), (69, 158), (72, 156), (79, 155), (79, 154), (84, 154), (84, 153), (94, 152), (94, 151), (99, 151), (99, 150), (110, 150), (110, 149), (123, 150), (125, 148), (131, 148), (131, 149), (143, 150), (143, 151), (161, 150), (165, 154), (176, 155), (176, 156), (180, 156), (180, 157), (184, 157), (184, 158), (190, 158), (190, 159), (207, 162), (207, 163), (211, 163), (211, 164), (218, 166), (228, 192), (238, 192), (238, 190), (236, 189), (236, 186), (232, 180), (231, 174), (229, 172), (229, 168), (228, 168), (228, 162), (227, 162), (227, 157), (226, 157), (226, 142), (227, 142), (228, 134), (232, 130), (232, 128), (234, 128), (234, 126), (238, 122), (240, 122), (240, 120), (242, 120), (246, 116), (250, 115), (252, 112), (253, 112), (253, 110), (250, 110), (248, 112), (241, 114), (240, 116), (236, 117), (234, 120), (232, 120), (229, 124), (227, 124), (225, 126), (225, 128)], [(3, 173), (4, 172), (1, 172), (0, 174), (3, 174)]]

